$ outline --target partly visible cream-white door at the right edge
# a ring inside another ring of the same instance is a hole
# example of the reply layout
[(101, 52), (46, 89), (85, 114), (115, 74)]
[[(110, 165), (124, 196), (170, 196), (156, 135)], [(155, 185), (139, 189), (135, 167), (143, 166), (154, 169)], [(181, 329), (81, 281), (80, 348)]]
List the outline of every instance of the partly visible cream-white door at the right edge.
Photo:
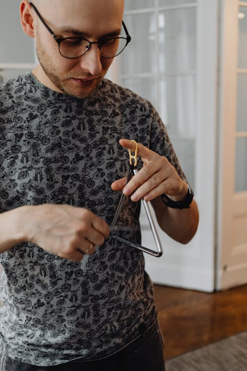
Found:
[(217, 288), (247, 282), (247, 1), (222, 2)]

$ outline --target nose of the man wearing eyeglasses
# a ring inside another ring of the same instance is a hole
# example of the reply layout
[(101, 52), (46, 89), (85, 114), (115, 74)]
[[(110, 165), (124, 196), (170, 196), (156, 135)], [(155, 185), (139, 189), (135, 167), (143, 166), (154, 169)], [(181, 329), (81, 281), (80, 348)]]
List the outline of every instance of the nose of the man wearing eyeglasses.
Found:
[(92, 76), (99, 76), (102, 71), (101, 55), (98, 44), (91, 45), (90, 49), (81, 56), (82, 70), (88, 71)]

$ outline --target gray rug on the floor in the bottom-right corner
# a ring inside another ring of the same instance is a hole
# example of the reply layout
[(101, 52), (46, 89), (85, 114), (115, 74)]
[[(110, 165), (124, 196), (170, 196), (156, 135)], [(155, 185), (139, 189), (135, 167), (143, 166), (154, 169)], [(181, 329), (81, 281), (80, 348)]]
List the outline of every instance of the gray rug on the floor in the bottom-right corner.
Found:
[(165, 361), (166, 371), (247, 371), (247, 331)]

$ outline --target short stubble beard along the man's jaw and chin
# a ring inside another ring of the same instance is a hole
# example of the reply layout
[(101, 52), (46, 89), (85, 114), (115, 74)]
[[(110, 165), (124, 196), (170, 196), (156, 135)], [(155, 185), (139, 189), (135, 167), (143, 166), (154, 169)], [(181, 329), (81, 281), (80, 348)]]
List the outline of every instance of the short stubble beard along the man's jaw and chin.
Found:
[(104, 77), (102, 76), (101, 79), (97, 81), (97, 84), (95, 84), (90, 90), (87, 90), (87, 92), (83, 91), (82, 88), (80, 89), (80, 87), (78, 87), (78, 92), (77, 92), (76, 88), (73, 89), (73, 88), (68, 87), (68, 82), (70, 81), (70, 79), (75, 78), (76, 76), (66, 76), (66, 74), (63, 74), (63, 77), (62, 78), (60, 77), (60, 75), (56, 72), (55, 66), (52, 64), (51, 59), (46, 54), (44, 48), (41, 46), (41, 42), (39, 38), (37, 38), (37, 41), (36, 41), (36, 53), (37, 53), (37, 57), (40, 62), (40, 65), (44, 73), (46, 74), (46, 76), (49, 78), (49, 80), (62, 93), (75, 96), (76, 98), (87, 98), (90, 95), (92, 95), (95, 92), (95, 90), (98, 88), (99, 83)]

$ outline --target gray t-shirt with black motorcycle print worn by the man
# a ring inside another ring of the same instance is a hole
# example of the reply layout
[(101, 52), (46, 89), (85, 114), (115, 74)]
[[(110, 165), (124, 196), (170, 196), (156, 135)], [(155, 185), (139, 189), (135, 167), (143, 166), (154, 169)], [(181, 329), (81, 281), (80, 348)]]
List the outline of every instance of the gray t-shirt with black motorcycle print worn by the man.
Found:
[[(22, 205), (88, 208), (109, 225), (128, 170), (120, 138), (135, 139), (182, 171), (149, 101), (103, 80), (89, 98), (44, 87), (29, 73), (0, 85), (0, 212)], [(127, 198), (119, 224), (140, 243), (139, 203)], [(123, 232), (124, 231), (124, 232)], [(137, 249), (109, 237), (82, 262), (25, 242), (0, 254), (0, 344), (40, 366), (97, 359), (123, 348), (157, 313)]]

